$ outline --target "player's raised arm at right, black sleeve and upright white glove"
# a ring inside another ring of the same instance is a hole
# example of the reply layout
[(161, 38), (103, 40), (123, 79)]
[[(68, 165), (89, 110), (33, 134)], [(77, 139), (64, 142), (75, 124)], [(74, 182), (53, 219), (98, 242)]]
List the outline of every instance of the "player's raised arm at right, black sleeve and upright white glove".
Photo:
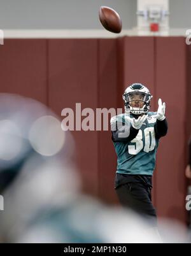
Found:
[(155, 136), (160, 139), (162, 136), (166, 136), (168, 125), (165, 117), (166, 104), (162, 104), (162, 100), (159, 99), (159, 108), (157, 110), (157, 122), (155, 124)]

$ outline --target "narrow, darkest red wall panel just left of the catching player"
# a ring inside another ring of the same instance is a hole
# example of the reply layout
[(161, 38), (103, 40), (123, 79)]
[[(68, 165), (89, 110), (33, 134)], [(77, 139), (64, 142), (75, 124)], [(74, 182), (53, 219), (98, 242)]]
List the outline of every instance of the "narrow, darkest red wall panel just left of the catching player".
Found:
[[(117, 41), (100, 39), (98, 47), (98, 108), (117, 109)], [(107, 202), (117, 201), (114, 190), (117, 157), (111, 141), (110, 118), (109, 131), (99, 134), (99, 196)]]

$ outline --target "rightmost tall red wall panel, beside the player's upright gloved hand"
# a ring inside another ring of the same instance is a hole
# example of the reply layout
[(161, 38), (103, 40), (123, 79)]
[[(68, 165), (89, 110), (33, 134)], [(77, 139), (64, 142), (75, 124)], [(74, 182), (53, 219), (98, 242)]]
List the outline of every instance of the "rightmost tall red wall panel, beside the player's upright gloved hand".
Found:
[(157, 98), (166, 102), (169, 132), (157, 156), (157, 209), (159, 216), (185, 220), (185, 129), (187, 104), (185, 38), (157, 38)]

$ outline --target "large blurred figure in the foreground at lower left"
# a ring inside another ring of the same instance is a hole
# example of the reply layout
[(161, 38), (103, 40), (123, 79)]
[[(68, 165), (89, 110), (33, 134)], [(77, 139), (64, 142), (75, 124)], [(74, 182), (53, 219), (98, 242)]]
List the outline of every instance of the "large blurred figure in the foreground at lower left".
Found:
[(71, 134), (51, 110), (0, 94), (1, 242), (160, 242), (132, 211), (81, 194), (74, 155)]

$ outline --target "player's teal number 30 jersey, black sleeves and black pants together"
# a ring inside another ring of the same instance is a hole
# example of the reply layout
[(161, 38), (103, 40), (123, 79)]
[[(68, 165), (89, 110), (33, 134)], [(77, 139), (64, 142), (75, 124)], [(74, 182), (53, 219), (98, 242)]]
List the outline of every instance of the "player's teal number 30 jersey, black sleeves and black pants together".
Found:
[[(111, 118), (112, 140), (117, 153), (115, 189), (120, 203), (154, 218), (152, 175), (160, 138), (167, 134), (166, 118), (160, 121), (156, 114), (148, 112), (140, 129), (132, 127), (125, 119), (126, 114)], [(138, 118), (138, 115), (130, 117)]]

